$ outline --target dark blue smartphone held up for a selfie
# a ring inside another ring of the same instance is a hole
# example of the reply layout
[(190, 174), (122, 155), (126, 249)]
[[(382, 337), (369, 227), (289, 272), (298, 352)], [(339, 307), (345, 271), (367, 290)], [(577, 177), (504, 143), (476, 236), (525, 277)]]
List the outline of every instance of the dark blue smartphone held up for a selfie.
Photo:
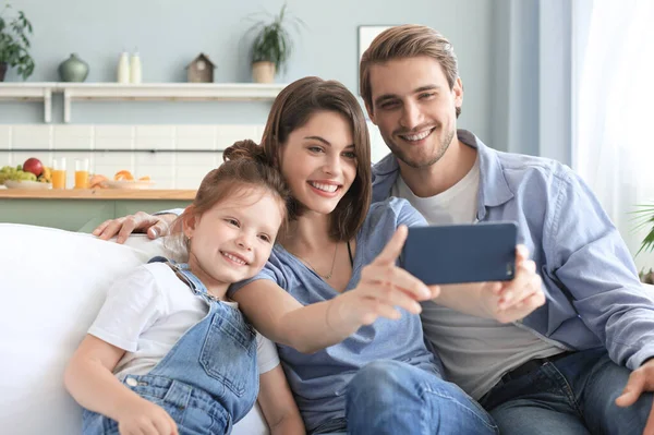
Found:
[(426, 285), (508, 281), (516, 274), (517, 243), (514, 222), (413, 227), (403, 265)]

